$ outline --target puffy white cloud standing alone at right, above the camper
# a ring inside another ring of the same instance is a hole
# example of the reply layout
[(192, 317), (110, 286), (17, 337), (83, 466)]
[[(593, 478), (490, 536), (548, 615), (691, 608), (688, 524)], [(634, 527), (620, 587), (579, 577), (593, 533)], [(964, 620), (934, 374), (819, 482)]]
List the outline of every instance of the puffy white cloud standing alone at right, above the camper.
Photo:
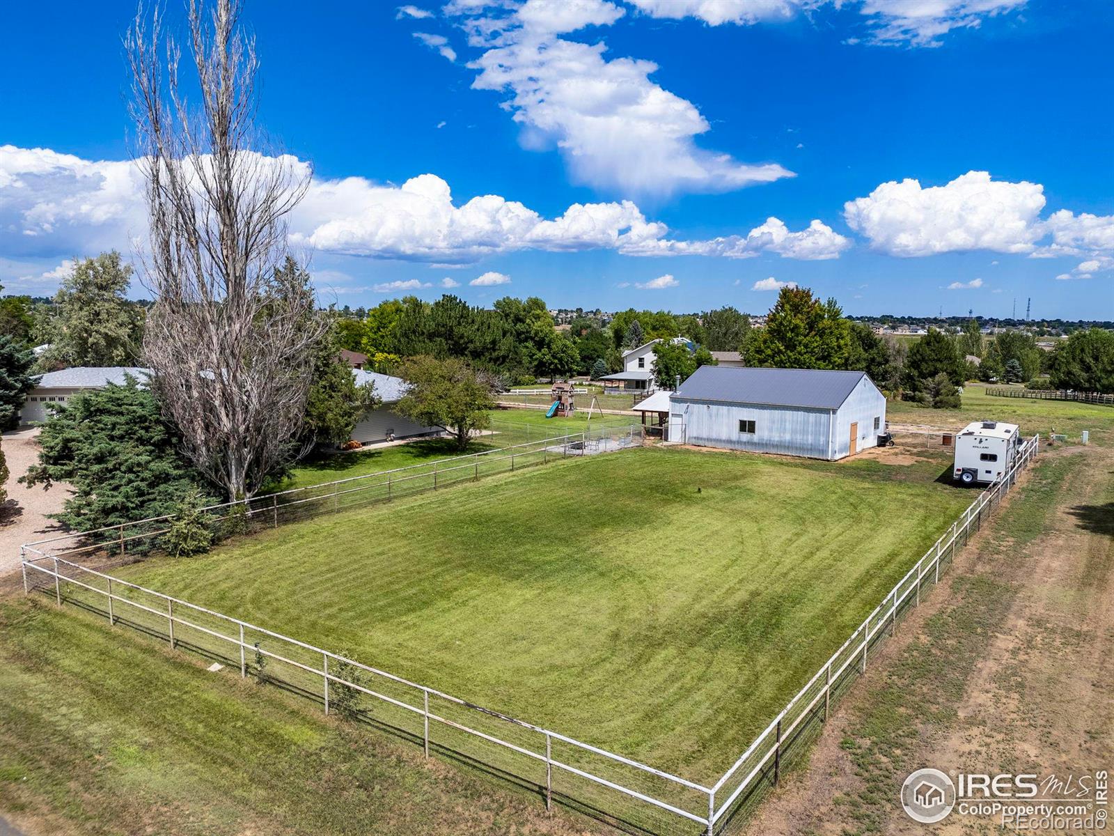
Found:
[(1033, 252), (1043, 230), (1044, 186), (991, 181), (968, 172), (944, 186), (919, 181), (882, 183), (866, 197), (848, 201), (843, 217), (874, 250), (915, 256), (969, 250)]

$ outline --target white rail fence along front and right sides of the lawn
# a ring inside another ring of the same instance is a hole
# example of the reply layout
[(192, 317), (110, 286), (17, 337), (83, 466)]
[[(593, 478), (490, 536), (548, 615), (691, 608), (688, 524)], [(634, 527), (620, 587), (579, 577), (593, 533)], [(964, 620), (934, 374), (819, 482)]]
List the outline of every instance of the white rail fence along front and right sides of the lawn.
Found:
[[(981, 492), (909, 570), (862, 624), (815, 672), (723, 776), (704, 785), (576, 740), (551, 729), (476, 706), (356, 660), (265, 628), (86, 568), (46, 548), (23, 546), (27, 592), (97, 612), (166, 640), (172, 648), (216, 659), (241, 677), (256, 677), (335, 710), (336, 694), (361, 696), (356, 715), (421, 745), (427, 754), (463, 760), (537, 790), (547, 808), (556, 797), (625, 828), (712, 836), (742, 822), (763, 791), (805, 750), (832, 702), (866, 672), (871, 653), (898, 619), (939, 582), (956, 552), (1016, 484), (1037, 455), (1034, 436), (1013, 467)], [(39, 544), (42, 545), (42, 544)], [(350, 704), (350, 700), (343, 700)]]

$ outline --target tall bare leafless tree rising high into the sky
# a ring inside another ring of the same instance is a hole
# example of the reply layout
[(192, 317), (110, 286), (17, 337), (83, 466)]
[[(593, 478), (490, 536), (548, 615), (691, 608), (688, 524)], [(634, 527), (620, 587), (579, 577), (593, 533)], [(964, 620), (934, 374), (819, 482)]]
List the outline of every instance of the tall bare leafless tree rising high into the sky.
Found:
[(258, 61), (240, 0), (188, 0), (186, 11), (196, 105), (157, 8), (140, 4), (125, 39), (150, 221), (144, 357), (189, 458), (240, 498), (299, 455), (325, 323), (307, 286), (287, 286), (295, 271), (276, 268), (311, 171), (256, 126)]

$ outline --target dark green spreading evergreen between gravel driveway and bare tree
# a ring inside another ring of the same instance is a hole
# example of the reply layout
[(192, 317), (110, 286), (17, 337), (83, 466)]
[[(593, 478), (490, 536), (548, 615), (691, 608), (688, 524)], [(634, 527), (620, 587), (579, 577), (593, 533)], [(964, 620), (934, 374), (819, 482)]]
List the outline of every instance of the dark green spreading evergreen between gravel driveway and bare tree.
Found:
[(155, 396), (134, 379), (56, 406), (39, 444), (39, 464), (20, 482), (68, 483), (71, 496), (50, 516), (74, 531), (173, 514), (189, 492), (208, 488)]

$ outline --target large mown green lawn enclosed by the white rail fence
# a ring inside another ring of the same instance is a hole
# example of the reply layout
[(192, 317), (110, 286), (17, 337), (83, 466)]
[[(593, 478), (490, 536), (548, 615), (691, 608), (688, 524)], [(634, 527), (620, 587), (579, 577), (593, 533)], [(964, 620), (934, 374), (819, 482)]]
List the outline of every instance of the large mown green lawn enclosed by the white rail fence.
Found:
[(946, 467), (645, 448), (119, 573), (713, 781), (970, 503)]

